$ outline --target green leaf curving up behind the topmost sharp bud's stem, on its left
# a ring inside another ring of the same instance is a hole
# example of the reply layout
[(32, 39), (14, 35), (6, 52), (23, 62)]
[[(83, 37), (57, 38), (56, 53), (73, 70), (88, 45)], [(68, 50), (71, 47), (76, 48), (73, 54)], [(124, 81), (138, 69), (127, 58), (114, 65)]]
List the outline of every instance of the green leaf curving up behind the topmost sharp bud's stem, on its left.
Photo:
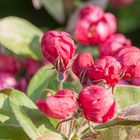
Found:
[(43, 88), (47, 88), (47, 85), (56, 75), (56, 70), (52, 69), (52, 67), (52, 65), (42, 67), (31, 79), (27, 89), (27, 95), (34, 102), (39, 99), (42, 94)]

